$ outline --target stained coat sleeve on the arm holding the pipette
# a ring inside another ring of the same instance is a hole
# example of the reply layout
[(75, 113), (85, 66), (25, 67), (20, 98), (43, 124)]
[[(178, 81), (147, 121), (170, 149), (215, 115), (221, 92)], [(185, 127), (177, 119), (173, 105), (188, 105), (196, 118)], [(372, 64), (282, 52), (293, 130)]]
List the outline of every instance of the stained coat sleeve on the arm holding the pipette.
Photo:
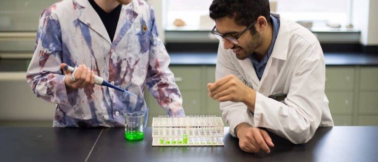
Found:
[(43, 10), (36, 35), (34, 54), (27, 71), (32, 92), (44, 100), (73, 107), (78, 91), (67, 94), (62, 63), (62, 34), (51, 7)]

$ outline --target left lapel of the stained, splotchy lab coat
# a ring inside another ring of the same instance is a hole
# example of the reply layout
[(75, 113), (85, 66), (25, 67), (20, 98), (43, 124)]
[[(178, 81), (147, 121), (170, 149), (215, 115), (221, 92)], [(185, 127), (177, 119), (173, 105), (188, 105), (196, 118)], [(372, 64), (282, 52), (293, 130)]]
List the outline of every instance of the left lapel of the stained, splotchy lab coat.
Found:
[(109, 42), (109, 44), (111, 44), (109, 34), (106, 31), (106, 28), (95, 9), (92, 7), (88, 0), (82, 0), (80, 2), (84, 8), (82, 9), (79, 20), (83, 22), (85, 25), (89, 26), (89, 28), (97, 32), (104, 39), (106, 39)]

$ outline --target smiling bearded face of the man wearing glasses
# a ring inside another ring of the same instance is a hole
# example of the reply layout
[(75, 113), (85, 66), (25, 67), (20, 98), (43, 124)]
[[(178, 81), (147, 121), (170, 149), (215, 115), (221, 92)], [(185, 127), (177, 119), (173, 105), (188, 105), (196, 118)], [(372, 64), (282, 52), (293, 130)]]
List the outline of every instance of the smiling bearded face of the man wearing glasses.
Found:
[[(215, 25), (218, 32), (231, 37), (238, 35), (247, 28), (247, 26), (237, 25), (234, 19), (228, 16), (216, 19)], [(233, 44), (226, 39), (223, 39), (224, 49), (232, 49), (236, 58), (244, 60), (250, 57), (250, 55), (252, 55), (252, 53), (261, 45), (262, 36), (259, 32), (252, 34), (251, 30), (248, 30), (239, 37), (238, 41), (239, 44)]]

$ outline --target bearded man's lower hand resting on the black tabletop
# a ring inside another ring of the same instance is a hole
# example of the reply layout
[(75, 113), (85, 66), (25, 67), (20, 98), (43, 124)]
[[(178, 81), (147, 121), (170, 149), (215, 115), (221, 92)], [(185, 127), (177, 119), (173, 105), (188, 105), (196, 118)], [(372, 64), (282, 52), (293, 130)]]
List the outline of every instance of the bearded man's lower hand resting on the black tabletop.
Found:
[(245, 152), (257, 153), (260, 150), (270, 153), (269, 147), (274, 147), (272, 139), (265, 130), (253, 128), (247, 123), (241, 123), (236, 127), (239, 138), (239, 147)]

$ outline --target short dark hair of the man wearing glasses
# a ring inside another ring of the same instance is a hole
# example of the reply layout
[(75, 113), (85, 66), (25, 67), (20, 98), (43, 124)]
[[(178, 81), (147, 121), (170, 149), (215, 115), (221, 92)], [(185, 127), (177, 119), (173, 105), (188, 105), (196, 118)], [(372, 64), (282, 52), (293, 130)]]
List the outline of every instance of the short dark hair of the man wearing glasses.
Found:
[[(259, 16), (264, 16), (270, 24), (269, 0), (213, 0), (210, 5), (213, 20), (230, 17), (237, 25), (249, 26)], [(251, 28), (252, 33), (255, 28)]]

